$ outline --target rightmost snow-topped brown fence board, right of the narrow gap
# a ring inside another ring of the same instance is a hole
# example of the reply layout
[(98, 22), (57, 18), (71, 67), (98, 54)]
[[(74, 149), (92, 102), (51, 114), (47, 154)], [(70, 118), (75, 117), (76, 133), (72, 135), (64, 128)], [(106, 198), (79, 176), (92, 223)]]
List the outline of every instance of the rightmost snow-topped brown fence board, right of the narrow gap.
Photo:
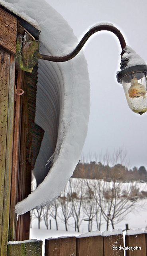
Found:
[[(126, 256), (146, 255), (144, 231), (143, 230), (127, 230), (125, 235), (125, 247), (130, 247), (129, 250), (125, 251)], [(141, 247), (141, 249), (139, 247)]]

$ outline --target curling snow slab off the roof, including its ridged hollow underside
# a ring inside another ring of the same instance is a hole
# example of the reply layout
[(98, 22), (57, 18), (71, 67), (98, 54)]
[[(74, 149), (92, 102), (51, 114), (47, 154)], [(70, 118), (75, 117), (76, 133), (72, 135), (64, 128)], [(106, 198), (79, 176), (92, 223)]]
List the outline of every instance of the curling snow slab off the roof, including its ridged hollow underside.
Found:
[[(0, 4), (41, 30), (41, 54), (62, 56), (77, 45), (73, 30), (44, 0), (0, 0)], [(33, 170), (38, 184), (46, 175), (47, 161), (53, 166), (37, 189), (16, 205), (18, 215), (51, 204), (63, 190), (80, 159), (89, 112), (90, 83), (83, 52), (65, 63), (39, 60), (35, 123), (45, 132)]]

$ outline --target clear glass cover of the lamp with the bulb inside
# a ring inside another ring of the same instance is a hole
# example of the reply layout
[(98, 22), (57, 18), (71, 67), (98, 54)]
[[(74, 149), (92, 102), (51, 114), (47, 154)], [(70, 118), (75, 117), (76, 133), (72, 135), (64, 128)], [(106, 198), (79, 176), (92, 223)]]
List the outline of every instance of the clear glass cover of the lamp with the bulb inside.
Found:
[(122, 78), (123, 90), (129, 108), (138, 114), (147, 111), (147, 79), (144, 72), (134, 72)]

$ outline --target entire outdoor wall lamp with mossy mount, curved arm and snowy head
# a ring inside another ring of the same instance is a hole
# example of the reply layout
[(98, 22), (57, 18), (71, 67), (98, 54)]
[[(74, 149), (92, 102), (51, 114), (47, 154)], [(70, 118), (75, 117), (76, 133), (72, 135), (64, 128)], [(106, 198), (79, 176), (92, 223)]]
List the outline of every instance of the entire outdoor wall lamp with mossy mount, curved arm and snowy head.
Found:
[(76, 46), (70, 54), (61, 57), (40, 54), (39, 42), (37, 40), (31, 40), (25, 44), (21, 56), (19, 55), (19, 66), (22, 70), (31, 72), (38, 59), (53, 62), (65, 62), (71, 60), (78, 54), (78, 52), (80, 52), (88, 38), (92, 36), (92, 34), (101, 30), (113, 32), (120, 40), (122, 47), (122, 71), (117, 72), (117, 80), (123, 85), (129, 108), (138, 114), (145, 113), (147, 111), (147, 65), (145, 61), (135, 53), (135, 51), (133, 51), (129, 46), (126, 46), (120, 30), (118, 30), (113, 24), (100, 23), (97, 26), (90, 28), (90, 30), (83, 36), (78, 46)]

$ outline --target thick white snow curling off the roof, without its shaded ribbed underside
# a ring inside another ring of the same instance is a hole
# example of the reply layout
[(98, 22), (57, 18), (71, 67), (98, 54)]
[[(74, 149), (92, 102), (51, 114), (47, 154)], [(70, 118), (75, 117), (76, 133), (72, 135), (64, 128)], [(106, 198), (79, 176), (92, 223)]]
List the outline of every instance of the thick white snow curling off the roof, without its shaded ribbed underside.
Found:
[[(0, 4), (41, 30), (39, 40), (51, 55), (67, 54), (77, 45), (73, 30), (44, 0), (0, 0)], [(72, 176), (84, 146), (90, 112), (87, 63), (81, 51), (73, 60), (58, 65), (63, 76), (64, 95), (55, 162), (37, 189), (16, 204), (18, 216), (32, 208), (52, 204)]]

